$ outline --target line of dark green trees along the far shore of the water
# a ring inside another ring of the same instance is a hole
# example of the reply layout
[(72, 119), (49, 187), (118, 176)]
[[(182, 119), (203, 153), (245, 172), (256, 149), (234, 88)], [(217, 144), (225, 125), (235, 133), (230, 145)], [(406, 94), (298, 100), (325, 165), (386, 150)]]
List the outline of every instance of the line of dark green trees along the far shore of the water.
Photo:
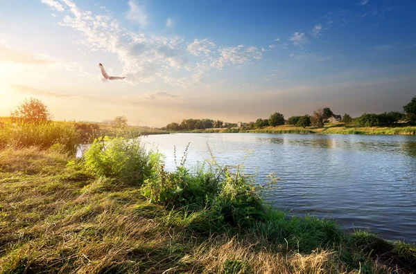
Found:
[[(377, 126), (392, 126), (401, 121), (407, 125), (416, 125), (416, 96), (403, 107), (403, 112), (390, 111), (385, 113), (364, 113), (363, 115), (352, 118), (348, 113), (343, 116), (336, 115), (331, 111), (329, 107), (323, 109), (317, 109), (313, 111), (313, 114), (309, 116), (291, 116), (285, 120), (284, 115), (276, 112), (270, 115), (268, 119), (259, 118), (255, 122), (248, 122), (245, 127), (250, 129), (259, 129), (263, 127), (277, 127), (279, 125), (294, 125), (296, 127), (309, 127), (315, 126), (318, 128), (324, 127), (324, 124), (329, 122), (329, 119), (334, 118), (338, 122), (344, 122), (345, 124), (355, 123), (356, 125), (364, 127), (377, 127)], [(162, 127), (169, 131), (178, 130), (194, 130), (194, 129), (211, 129), (211, 128), (223, 128), (223, 127), (236, 127), (236, 124), (223, 122), (222, 120), (211, 119), (184, 119), (182, 122), (171, 122)]]

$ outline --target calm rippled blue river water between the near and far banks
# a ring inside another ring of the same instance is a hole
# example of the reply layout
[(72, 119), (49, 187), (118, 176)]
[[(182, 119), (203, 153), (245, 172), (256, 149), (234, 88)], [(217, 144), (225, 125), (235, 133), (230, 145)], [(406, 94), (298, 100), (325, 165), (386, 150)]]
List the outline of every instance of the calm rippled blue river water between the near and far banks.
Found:
[(222, 165), (245, 160), (260, 182), (275, 172), (281, 188), (266, 201), (291, 214), (336, 219), (347, 230), (416, 242), (416, 136), (298, 134), (170, 134), (143, 139), (173, 170), (190, 142), (187, 166), (210, 158)]

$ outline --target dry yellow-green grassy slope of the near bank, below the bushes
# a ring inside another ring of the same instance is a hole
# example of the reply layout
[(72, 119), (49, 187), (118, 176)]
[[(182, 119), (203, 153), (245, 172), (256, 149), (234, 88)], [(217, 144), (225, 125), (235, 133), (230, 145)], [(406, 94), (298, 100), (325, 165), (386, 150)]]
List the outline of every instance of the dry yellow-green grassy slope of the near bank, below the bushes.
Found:
[[(150, 204), (139, 186), (98, 178), (64, 154), (0, 151), (0, 273), (389, 273), (403, 259), (366, 232), (303, 250), (331, 223), (276, 221), (197, 233), (192, 215)], [(270, 240), (285, 231), (281, 244)], [(375, 259), (381, 253), (388, 265)]]

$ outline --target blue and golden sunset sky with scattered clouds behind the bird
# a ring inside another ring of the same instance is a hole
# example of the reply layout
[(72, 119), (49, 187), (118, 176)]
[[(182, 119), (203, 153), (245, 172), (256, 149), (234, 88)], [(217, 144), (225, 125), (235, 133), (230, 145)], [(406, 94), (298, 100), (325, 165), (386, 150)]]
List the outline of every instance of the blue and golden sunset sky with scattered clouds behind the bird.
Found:
[[(14, 0), (0, 9), (0, 116), (162, 127), (330, 107), (402, 111), (416, 95), (416, 0)], [(124, 80), (104, 82), (98, 63)]]

